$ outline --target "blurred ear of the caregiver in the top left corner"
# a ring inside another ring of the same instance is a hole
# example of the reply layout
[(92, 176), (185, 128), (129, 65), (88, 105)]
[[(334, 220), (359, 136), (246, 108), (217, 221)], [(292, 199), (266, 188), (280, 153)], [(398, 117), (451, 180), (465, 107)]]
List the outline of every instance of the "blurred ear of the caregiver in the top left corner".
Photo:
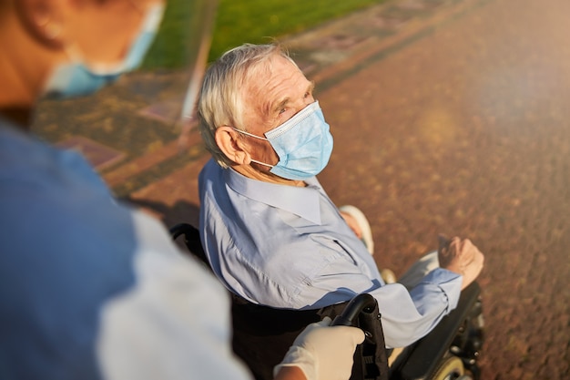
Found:
[(16, 0), (16, 13), (25, 30), (44, 46), (61, 48), (66, 0)]

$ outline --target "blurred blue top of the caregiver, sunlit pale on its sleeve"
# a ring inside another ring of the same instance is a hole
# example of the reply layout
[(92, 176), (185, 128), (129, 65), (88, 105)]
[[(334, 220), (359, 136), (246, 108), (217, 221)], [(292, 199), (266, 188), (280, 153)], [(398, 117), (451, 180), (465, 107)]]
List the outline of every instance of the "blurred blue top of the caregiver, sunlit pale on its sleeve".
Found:
[(0, 378), (249, 378), (230, 336), (223, 287), (159, 221), (0, 119)]

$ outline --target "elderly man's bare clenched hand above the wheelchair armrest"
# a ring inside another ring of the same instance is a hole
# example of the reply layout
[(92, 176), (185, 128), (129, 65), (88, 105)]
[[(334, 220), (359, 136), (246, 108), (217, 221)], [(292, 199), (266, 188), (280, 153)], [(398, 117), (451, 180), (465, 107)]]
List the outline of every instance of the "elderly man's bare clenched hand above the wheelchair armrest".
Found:
[(439, 235), (440, 267), (463, 276), (462, 290), (477, 278), (483, 269), (484, 256), (469, 239)]

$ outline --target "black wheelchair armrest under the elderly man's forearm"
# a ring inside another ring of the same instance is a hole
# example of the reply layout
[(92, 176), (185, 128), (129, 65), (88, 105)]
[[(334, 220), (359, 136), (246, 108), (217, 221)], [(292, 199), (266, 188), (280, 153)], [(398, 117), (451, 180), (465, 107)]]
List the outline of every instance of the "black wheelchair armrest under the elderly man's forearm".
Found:
[(435, 326), (430, 334), (424, 336), (417, 343), (412, 344), (406, 355), (402, 367), (398, 368), (398, 375), (402, 380), (427, 379), (437, 370), (445, 354), (450, 352), (453, 341), (458, 333), (463, 331), (465, 321), (473, 313), (481, 313), (479, 294), (481, 288), (473, 282), (465, 288), (460, 296), (457, 307)]

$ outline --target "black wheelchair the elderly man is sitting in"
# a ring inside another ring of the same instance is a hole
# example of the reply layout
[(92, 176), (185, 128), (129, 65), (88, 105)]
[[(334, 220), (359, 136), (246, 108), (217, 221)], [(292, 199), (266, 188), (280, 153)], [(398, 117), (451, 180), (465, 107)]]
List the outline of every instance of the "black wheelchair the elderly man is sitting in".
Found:
[[(209, 268), (198, 230), (188, 223), (170, 228), (191, 257)], [(210, 268), (209, 268), (210, 269)], [(211, 269), (210, 269), (211, 270)], [(298, 334), (325, 316), (332, 324), (360, 327), (366, 335), (354, 354), (351, 380), (480, 380), (478, 358), (483, 348), (481, 288), (473, 282), (461, 294), (457, 307), (416, 343), (392, 358), (382, 332), (382, 315), (372, 295), (358, 294), (350, 302), (318, 310), (289, 310), (249, 303), (230, 293), (233, 324), (232, 348), (249, 366), (256, 380), (273, 378)], [(395, 354), (394, 354), (395, 355)], [(390, 365), (389, 365), (390, 363)]]

